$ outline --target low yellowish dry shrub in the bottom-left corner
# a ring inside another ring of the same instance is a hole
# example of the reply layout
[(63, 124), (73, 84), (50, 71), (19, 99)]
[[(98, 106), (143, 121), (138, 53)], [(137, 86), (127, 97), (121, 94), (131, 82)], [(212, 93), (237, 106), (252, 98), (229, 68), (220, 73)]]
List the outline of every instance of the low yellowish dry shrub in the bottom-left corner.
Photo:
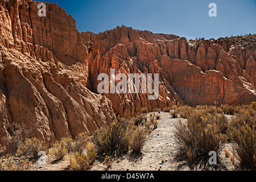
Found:
[(31, 164), (28, 159), (16, 160), (9, 155), (0, 158), (0, 171), (28, 171)]

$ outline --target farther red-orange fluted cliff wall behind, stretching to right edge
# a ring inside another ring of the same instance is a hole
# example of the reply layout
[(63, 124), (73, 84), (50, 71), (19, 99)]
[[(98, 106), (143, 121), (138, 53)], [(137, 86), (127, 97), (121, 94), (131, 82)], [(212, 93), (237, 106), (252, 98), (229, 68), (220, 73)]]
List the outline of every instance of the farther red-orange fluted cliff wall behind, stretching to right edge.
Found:
[[(235, 51), (231, 42), (203, 40), (200, 46), (175, 35), (152, 34), (125, 26), (100, 34), (82, 33), (90, 43), (89, 76), (97, 93), (97, 76), (118, 73), (159, 73), (159, 99), (148, 94), (104, 94), (125, 117), (142, 107), (188, 104), (249, 104), (256, 100), (255, 51)], [(234, 56), (236, 55), (236, 56)]]

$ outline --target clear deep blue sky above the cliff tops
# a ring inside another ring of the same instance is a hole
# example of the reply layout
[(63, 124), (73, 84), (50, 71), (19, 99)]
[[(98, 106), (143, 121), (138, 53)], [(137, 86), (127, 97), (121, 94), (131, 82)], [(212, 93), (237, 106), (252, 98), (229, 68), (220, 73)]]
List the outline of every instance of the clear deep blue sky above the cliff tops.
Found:
[[(76, 20), (80, 32), (125, 25), (187, 39), (256, 34), (256, 0), (41, 0), (57, 3)], [(210, 17), (209, 3), (217, 17)]]

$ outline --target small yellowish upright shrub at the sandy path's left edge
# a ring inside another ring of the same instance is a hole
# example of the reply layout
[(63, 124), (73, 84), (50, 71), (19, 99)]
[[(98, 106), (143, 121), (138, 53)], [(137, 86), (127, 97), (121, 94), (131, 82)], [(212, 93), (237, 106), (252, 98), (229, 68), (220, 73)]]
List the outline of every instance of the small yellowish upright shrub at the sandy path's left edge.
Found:
[(143, 126), (137, 126), (134, 131), (131, 131), (129, 146), (131, 147), (132, 152), (138, 154), (141, 152), (144, 144), (147, 140), (147, 130)]

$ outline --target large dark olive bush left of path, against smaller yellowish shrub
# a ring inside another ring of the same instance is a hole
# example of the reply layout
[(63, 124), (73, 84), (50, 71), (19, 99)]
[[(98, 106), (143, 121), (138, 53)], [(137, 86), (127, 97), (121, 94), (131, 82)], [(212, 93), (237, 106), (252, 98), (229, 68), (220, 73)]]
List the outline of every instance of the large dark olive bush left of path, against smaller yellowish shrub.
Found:
[(98, 154), (114, 155), (127, 152), (129, 142), (127, 139), (128, 122), (118, 117), (109, 127), (96, 131), (90, 138)]

